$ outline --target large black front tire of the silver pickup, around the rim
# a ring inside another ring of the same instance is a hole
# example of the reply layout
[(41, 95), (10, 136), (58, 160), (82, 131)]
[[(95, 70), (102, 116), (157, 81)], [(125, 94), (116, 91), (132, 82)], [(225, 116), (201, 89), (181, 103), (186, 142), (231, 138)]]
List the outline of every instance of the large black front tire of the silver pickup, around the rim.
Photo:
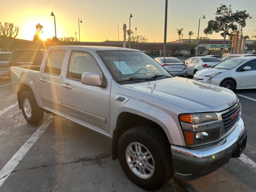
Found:
[[(144, 145), (154, 159), (154, 173), (149, 178), (136, 175), (126, 161), (126, 148), (133, 142)], [(136, 126), (123, 133), (118, 141), (118, 158), (127, 177), (145, 190), (158, 190), (173, 176), (169, 141), (159, 130), (152, 127)]]

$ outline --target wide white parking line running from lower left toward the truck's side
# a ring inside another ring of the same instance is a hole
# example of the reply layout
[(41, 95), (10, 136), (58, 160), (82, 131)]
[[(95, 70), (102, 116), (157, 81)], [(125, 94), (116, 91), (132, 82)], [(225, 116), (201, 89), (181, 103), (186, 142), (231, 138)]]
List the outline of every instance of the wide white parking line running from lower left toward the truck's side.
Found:
[(35, 133), (22, 145), (22, 147), (13, 155), (13, 157), (6, 163), (3, 169), (0, 171), (0, 187), (3, 182), (7, 179), (10, 173), (15, 169), (21, 159), (26, 155), (29, 149), (34, 145), (40, 135), (45, 131), (49, 126), (53, 116), (50, 115), (42, 125), (35, 131)]

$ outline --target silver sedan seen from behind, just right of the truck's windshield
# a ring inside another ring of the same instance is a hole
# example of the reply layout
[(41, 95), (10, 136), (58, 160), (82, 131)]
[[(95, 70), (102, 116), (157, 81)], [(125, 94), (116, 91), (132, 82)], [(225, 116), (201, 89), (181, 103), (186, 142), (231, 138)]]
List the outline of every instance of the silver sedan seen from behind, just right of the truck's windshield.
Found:
[(187, 66), (178, 58), (175, 57), (157, 57), (154, 58), (160, 65), (167, 67), (166, 70), (173, 75), (187, 76)]

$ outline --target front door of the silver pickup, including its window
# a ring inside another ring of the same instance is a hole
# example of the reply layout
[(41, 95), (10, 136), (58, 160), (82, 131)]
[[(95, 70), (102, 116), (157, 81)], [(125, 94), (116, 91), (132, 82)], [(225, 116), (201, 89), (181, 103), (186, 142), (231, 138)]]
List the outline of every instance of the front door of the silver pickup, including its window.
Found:
[(92, 54), (71, 51), (61, 91), (65, 116), (109, 134), (110, 86), (101, 88), (82, 84), (81, 77), (85, 72), (98, 73), (102, 80), (102, 70)]

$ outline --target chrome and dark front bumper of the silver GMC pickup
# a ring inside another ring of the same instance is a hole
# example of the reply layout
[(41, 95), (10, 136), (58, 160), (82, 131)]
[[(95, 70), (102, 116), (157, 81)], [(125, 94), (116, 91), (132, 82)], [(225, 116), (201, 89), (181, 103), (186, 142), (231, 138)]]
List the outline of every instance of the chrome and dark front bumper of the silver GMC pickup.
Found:
[(240, 118), (234, 130), (217, 144), (197, 149), (171, 145), (174, 177), (190, 181), (217, 170), (231, 157), (240, 157), (246, 139), (246, 129)]

